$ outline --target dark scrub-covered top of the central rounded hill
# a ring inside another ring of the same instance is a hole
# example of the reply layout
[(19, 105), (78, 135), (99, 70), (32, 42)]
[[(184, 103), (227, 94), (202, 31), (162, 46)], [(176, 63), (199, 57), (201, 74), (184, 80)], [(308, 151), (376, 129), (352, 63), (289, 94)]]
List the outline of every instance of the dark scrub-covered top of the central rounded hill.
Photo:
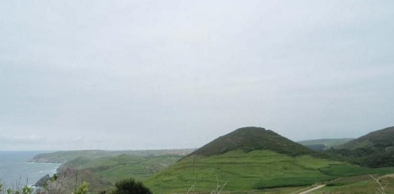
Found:
[(192, 152), (189, 156), (213, 156), (232, 150), (243, 150), (245, 152), (271, 150), (292, 156), (317, 154), (313, 150), (305, 148), (271, 130), (259, 127), (245, 127), (216, 138), (202, 148)]

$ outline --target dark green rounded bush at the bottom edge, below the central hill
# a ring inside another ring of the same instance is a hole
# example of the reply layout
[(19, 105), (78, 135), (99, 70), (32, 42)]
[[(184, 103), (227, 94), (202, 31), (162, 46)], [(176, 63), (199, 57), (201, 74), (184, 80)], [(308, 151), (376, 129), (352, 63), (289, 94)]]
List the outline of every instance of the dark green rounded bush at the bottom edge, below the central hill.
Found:
[(152, 194), (148, 187), (133, 178), (119, 181), (112, 194)]

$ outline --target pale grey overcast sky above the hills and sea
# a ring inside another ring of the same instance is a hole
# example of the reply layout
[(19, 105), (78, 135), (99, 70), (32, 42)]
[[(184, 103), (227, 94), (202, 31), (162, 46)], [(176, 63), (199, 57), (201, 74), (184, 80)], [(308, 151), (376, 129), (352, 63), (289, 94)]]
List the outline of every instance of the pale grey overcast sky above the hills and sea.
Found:
[(394, 1), (0, 1), (0, 150), (394, 126)]

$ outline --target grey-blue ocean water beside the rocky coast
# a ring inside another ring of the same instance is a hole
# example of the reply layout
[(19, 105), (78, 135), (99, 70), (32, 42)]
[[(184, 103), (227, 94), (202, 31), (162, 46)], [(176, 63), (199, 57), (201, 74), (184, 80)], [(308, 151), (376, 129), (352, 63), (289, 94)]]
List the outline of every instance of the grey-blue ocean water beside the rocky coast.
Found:
[(26, 160), (51, 151), (0, 151), (0, 179), (6, 188), (16, 184), (34, 185), (41, 177), (56, 173), (57, 163), (31, 163)]

